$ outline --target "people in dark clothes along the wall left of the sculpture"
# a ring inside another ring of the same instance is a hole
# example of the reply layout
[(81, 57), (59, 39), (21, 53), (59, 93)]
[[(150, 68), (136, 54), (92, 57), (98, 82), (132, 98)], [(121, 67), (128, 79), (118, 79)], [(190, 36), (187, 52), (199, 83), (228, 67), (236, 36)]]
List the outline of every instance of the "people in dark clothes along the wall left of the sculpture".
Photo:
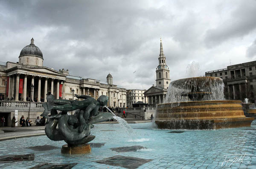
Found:
[[(37, 116), (37, 119), (35, 119), (35, 125), (36, 126), (44, 126), (45, 125), (45, 118), (42, 117), (41, 119), (39, 118), (39, 116)], [(11, 127), (15, 127), (15, 124), (17, 123), (18, 121), (16, 121), (16, 118), (15, 116), (13, 116), (12, 118), (12, 125)], [(27, 117), (26, 120), (24, 118), (24, 115), (21, 116), (20, 118), (20, 127), (30, 127), (32, 124), (32, 121), (29, 120), (29, 118)]]

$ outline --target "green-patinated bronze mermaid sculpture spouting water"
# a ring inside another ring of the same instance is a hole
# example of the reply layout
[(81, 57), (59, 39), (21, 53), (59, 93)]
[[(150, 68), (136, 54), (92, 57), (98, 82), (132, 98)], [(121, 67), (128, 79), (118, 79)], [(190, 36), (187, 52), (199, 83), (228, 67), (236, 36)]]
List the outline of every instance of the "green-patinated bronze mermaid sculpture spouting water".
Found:
[[(99, 112), (100, 107), (107, 105), (108, 96), (102, 95), (97, 100), (85, 95), (75, 96), (84, 100), (54, 99), (53, 95), (47, 95), (41, 116), (48, 118), (45, 133), (49, 139), (64, 140), (70, 146), (86, 144), (95, 138), (90, 135), (93, 124), (113, 119), (111, 113)], [(74, 115), (67, 114), (73, 110), (76, 110)]]

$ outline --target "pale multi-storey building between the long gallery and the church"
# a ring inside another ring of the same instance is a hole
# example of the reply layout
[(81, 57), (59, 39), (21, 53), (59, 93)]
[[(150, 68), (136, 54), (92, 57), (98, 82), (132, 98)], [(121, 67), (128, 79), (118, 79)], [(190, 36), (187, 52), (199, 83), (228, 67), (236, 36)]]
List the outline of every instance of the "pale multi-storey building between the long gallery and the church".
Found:
[(132, 104), (137, 103), (138, 101), (142, 101), (143, 103), (147, 103), (147, 99), (144, 96), (144, 92), (146, 90), (139, 89), (128, 89), (126, 93), (127, 98), (127, 106), (132, 107)]

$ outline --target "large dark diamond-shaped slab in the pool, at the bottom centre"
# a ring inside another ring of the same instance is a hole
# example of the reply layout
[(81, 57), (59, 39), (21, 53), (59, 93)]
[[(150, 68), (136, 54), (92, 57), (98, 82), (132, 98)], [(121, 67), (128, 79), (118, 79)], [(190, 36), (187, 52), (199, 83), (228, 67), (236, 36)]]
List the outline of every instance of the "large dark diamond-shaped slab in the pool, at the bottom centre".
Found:
[(128, 169), (137, 169), (139, 166), (148, 163), (152, 160), (146, 160), (143, 158), (126, 157), (121, 155), (115, 155), (110, 158), (105, 158), (103, 160), (93, 161), (96, 163), (103, 163), (111, 166), (122, 166)]

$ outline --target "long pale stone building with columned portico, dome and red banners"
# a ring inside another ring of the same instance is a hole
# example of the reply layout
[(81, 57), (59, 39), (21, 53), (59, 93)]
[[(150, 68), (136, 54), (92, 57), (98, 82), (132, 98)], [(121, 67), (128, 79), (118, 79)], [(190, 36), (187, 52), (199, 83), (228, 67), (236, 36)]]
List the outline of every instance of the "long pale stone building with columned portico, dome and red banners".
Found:
[(107, 75), (107, 83), (69, 75), (68, 70), (54, 70), (43, 66), (41, 50), (31, 39), (19, 56), (19, 62), (0, 63), (0, 100), (47, 101), (47, 94), (56, 99), (77, 99), (75, 94), (98, 99), (109, 97), (109, 107), (126, 107), (126, 89), (113, 85), (113, 77)]

